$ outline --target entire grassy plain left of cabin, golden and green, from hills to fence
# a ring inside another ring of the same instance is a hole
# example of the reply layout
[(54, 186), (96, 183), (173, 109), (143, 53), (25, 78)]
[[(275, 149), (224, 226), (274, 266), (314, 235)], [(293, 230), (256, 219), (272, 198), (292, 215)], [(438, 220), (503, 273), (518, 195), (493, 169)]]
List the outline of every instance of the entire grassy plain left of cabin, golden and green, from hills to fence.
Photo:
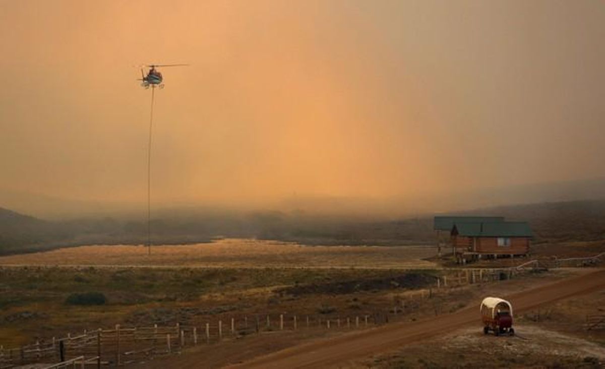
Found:
[[(227, 239), (153, 246), (151, 251), (147, 255), (145, 247), (128, 245), (80, 246), (1, 257), (0, 342), (22, 344), (118, 323), (174, 324), (221, 311), (294, 309), (313, 314), (329, 307), (369, 312), (384, 304), (387, 291), (383, 297), (376, 292), (385, 280), (388, 285), (389, 278), (405, 273), (397, 269), (431, 273), (435, 266), (422, 260), (434, 253), (426, 246), (301, 246)], [(15, 264), (22, 267), (2, 267)], [(334, 295), (342, 281), (346, 286), (361, 283), (368, 290), (355, 292), (371, 297), (362, 303), (350, 301), (352, 293)], [(308, 284), (316, 286), (312, 293), (293, 299), (284, 300), (279, 292)], [(107, 303), (66, 303), (71, 293), (90, 292), (103, 293)], [(195, 316), (183, 315), (191, 308)]]

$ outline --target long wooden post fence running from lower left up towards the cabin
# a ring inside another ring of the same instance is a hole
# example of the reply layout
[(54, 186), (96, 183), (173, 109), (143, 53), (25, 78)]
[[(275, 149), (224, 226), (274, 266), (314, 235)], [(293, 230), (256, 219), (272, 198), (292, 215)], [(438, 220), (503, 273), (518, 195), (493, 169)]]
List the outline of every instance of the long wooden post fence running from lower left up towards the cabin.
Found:
[[(449, 270), (437, 276), (434, 286), (399, 294), (393, 307), (360, 315), (335, 314), (295, 315), (217, 315), (200, 325), (170, 325), (159, 327), (121, 327), (83, 331), (77, 335), (53, 338), (18, 348), (0, 346), (0, 369), (34, 363), (48, 363), (48, 368), (111, 367), (152, 359), (180, 351), (183, 347), (215, 344), (220, 341), (260, 335), (275, 331), (353, 330), (384, 324), (401, 318), (407, 310), (406, 301), (432, 298), (451, 293), (469, 284), (509, 279), (523, 270), (465, 269)], [(436, 310), (437, 314), (437, 310)], [(67, 363), (67, 364), (53, 364)], [(59, 365), (59, 366), (56, 366)]]

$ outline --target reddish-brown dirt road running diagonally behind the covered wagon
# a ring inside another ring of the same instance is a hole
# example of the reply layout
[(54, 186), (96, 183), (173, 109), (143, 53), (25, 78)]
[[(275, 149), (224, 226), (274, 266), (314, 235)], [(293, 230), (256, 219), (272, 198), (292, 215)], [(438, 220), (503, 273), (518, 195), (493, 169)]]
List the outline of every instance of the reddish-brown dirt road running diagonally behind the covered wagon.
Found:
[[(586, 273), (532, 290), (506, 296), (515, 314), (559, 299), (605, 289), (605, 270)], [(386, 325), (337, 338), (321, 339), (261, 356), (238, 366), (246, 368), (348, 367), (356, 359), (396, 350), (405, 344), (458, 328), (477, 325), (479, 305), (434, 319)]]

